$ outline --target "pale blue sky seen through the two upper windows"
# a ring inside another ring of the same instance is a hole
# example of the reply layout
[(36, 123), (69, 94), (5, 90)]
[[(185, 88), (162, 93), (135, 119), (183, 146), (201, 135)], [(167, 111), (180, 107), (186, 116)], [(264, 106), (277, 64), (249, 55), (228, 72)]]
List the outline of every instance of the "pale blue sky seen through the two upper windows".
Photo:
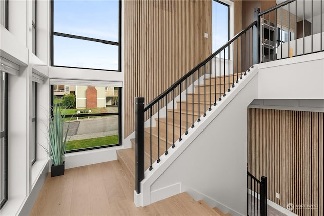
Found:
[[(212, 1), (212, 51), (228, 41), (228, 7)], [(55, 0), (54, 32), (118, 42), (118, 0)], [(54, 36), (54, 65), (118, 70), (118, 46)]]

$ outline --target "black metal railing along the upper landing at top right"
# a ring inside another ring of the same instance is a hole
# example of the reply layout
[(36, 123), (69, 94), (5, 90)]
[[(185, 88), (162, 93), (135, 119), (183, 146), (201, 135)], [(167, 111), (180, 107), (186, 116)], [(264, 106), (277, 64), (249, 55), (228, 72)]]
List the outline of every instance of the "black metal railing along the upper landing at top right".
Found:
[(258, 14), (260, 62), (324, 49), (323, 0), (287, 0)]

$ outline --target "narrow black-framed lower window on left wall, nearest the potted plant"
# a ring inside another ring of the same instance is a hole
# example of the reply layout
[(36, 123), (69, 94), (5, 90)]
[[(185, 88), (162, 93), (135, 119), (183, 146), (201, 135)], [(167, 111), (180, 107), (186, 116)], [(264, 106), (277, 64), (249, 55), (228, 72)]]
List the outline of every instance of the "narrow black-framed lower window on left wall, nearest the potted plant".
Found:
[(32, 82), (32, 104), (31, 104), (31, 114), (32, 114), (32, 118), (31, 118), (31, 133), (32, 133), (32, 143), (31, 143), (31, 165), (34, 165), (34, 163), (37, 160), (37, 109), (36, 109), (36, 105), (37, 105), (37, 83), (36, 82)]

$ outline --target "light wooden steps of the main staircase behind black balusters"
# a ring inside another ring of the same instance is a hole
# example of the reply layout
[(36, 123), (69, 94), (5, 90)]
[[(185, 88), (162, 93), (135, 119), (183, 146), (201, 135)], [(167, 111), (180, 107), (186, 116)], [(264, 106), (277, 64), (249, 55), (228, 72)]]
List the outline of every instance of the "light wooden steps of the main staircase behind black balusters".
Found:
[[(238, 78), (240, 74), (238, 75)], [(152, 119), (152, 122), (155, 120), (156, 127), (152, 127), (152, 133), (150, 133), (150, 128), (145, 128), (145, 169), (150, 167), (150, 137), (152, 136), (152, 164), (158, 159), (158, 155), (163, 155), (166, 151), (166, 148), (170, 148), (173, 141), (177, 141), (180, 137), (180, 128), (181, 136), (186, 136), (186, 126), (188, 128), (192, 125), (192, 115), (194, 115), (194, 123), (198, 119), (198, 116), (208, 112), (208, 108), (215, 102), (215, 82), (216, 82), (216, 101), (218, 101), (220, 96), (224, 94), (224, 84), (225, 84), (225, 93), (229, 89), (228, 81), (230, 83), (237, 80), (237, 74), (218, 77), (206, 78), (205, 83), (200, 83), (195, 85), (194, 93), (188, 93), (188, 111), (186, 106), (186, 98), (182, 98), (181, 101), (176, 101), (177, 108), (174, 110), (174, 135), (173, 135), (173, 109), (168, 107), (168, 118), (160, 117), (159, 122), (159, 136), (158, 136), (158, 119)], [(205, 84), (205, 86), (204, 86)], [(210, 88), (211, 84), (211, 88)], [(221, 87), (219, 86), (221, 85)], [(231, 87), (231, 84), (230, 84)], [(200, 98), (198, 97), (198, 88), (200, 88)], [(206, 91), (206, 97), (204, 98), (204, 92)], [(210, 100), (211, 98), (211, 100)], [(200, 101), (200, 103), (199, 103)], [(181, 103), (181, 126), (180, 126), (180, 103)], [(198, 107), (200, 106), (200, 112), (198, 113)], [(187, 122), (188, 114), (188, 122)], [(166, 130), (166, 125), (168, 124), (168, 129)], [(168, 136), (167, 136), (168, 135)], [(160, 142), (160, 151), (158, 151), (158, 141)], [(124, 170), (127, 172), (127, 176), (130, 177), (131, 181), (135, 181), (135, 139), (131, 139), (132, 148), (118, 150), (118, 161), (123, 166)], [(158, 153), (159, 152), (159, 153)], [(203, 202), (202, 202), (203, 203)], [(201, 204), (203, 205), (203, 204)], [(215, 210), (215, 209), (214, 209)], [(217, 210), (215, 210), (217, 211)], [(214, 214), (213, 214), (214, 215)], [(220, 214), (225, 215), (225, 214)]]

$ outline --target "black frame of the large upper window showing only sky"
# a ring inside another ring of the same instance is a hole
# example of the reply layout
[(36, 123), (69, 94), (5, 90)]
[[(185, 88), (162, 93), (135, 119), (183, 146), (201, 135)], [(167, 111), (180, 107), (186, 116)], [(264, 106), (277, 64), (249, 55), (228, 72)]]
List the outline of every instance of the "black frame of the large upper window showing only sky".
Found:
[[(51, 66), (63, 67), (63, 68), (79, 68), (79, 69), (90, 69), (90, 70), (104, 70), (104, 71), (121, 71), (121, 0), (118, 0), (118, 42), (113, 42), (109, 40), (96, 39), (91, 37), (77, 36), (73, 34), (65, 34), (60, 32), (54, 32), (54, 1), (51, 0)], [(93, 42), (100, 42), (102, 44), (110, 44), (118, 46), (118, 70), (107, 69), (97, 69), (97, 68), (86, 68), (86, 67), (71, 67), (71, 66), (62, 66), (54, 65), (54, 36), (68, 37), (72, 39), (88, 40)]]

